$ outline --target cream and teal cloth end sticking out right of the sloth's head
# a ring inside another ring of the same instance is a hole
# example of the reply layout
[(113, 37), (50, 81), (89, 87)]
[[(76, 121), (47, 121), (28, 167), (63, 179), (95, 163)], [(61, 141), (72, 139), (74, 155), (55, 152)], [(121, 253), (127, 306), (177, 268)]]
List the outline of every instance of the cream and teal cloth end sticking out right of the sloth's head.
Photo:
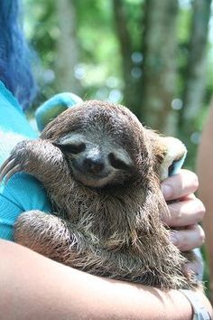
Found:
[(160, 165), (160, 180), (178, 174), (187, 155), (186, 146), (181, 140), (171, 136), (160, 136), (160, 141), (165, 148), (165, 153)]

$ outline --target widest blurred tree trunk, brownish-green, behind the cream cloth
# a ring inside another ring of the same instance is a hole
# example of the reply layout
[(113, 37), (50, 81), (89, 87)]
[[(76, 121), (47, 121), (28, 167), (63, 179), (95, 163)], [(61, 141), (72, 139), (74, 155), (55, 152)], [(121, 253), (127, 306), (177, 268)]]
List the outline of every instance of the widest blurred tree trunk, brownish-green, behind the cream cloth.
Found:
[[(146, 124), (175, 135), (177, 0), (146, 0), (144, 12), (143, 106)], [(143, 115), (142, 115), (143, 116)]]

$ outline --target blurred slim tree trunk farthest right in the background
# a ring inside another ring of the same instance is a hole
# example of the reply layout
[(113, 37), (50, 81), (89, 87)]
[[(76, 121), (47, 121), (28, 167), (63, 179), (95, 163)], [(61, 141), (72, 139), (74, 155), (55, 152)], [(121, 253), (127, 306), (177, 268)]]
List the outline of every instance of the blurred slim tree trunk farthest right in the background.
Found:
[(206, 49), (208, 42), (208, 21), (211, 0), (194, 0), (189, 59), (186, 70), (186, 85), (183, 92), (183, 108), (180, 125), (193, 131), (193, 121), (198, 117), (199, 109), (206, 89)]

